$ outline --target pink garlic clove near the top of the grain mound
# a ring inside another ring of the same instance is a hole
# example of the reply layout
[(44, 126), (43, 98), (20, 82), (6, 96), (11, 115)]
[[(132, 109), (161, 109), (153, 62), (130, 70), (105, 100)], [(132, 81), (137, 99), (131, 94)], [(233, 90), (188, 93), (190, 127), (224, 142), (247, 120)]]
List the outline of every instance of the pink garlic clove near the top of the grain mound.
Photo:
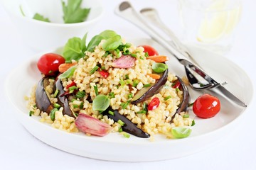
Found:
[(131, 57), (129, 55), (122, 55), (117, 60), (114, 60), (112, 67), (127, 69), (134, 67), (136, 58)]

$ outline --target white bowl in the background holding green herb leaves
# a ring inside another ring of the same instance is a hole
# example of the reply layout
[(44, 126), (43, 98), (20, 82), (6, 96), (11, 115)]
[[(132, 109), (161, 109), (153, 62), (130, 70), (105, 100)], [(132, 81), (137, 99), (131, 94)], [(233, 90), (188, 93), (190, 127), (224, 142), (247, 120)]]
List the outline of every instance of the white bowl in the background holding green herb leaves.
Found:
[[(46, 50), (60, 47), (69, 38), (82, 38), (103, 16), (104, 9), (100, 0), (83, 0), (83, 8), (91, 8), (86, 21), (82, 23), (63, 23), (61, 1), (57, 0), (1, 0), (11, 16), (23, 41), (34, 50)], [(25, 16), (21, 13), (21, 8)], [(35, 13), (49, 18), (51, 23), (33, 19)]]

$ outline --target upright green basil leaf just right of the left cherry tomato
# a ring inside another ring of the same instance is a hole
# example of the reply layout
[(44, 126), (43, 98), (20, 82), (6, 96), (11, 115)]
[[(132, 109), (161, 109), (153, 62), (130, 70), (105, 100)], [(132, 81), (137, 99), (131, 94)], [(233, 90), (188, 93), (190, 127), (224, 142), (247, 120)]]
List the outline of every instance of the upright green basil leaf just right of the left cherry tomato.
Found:
[(71, 60), (79, 60), (85, 56), (85, 51), (82, 49), (84, 45), (82, 44), (82, 40), (77, 37), (70, 38), (68, 40), (63, 50), (63, 57), (65, 58), (66, 62), (70, 62)]

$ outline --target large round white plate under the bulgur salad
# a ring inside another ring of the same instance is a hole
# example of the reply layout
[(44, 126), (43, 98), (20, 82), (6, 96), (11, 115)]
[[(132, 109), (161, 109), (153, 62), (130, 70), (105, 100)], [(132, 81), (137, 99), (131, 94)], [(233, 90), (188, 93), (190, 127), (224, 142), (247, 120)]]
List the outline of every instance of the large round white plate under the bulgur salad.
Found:
[[(152, 45), (159, 54), (169, 55), (163, 47), (150, 39), (131, 40), (135, 45)], [(196, 60), (203, 66), (206, 72), (217, 81), (228, 81), (226, 88), (232, 91), (249, 106), (252, 101), (252, 82), (247, 74), (230, 60), (220, 55), (213, 54), (198, 47), (189, 47)], [(53, 50), (52, 52), (59, 52)], [(236, 106), (222, 96), (218, 96), (221, 102), (221, 110), (218, 115), (210, 119), (200, 119), (193, 115), (196, 125), (191, 127), (191, 136), (180, 140), (169, 140), (162, 135), (156, 135), (154, 142), (131, 135), (122, 137), (118, 133), (111, 133), (105, 137), (88, 137), (82, 133), (68, 133), (52, 128), (49, 124), (40, 123), (39, 117), (28, 115), (26, 101), (23, 97), (29, 95), (32, 86), (41, 79), (41, 74), (36, 68), (38, 58), (46, 52), (33, 57), (21, 64), (9, 74), (6, 79), (6, 96), (16, 108), (16, 117), (32, 135), (48, 145), (77, 154), (82, 157), (103, 159), (117, 162), (149, 162), (164, 159), (174, 159), (206, 149), (215, 142), (228, 135), (239, 125), (246, 108)], [(170, 56), (170, 55), (169, 55)], [(183, 66), (170, 56), (169, 68), (179, 77), (185, 75)], [(190, 90), (191, 101), (201, 93)], [(205, 91), (205, 93), (213, 92)], [(218, 95), (218, 94), (213, 94)], [(11, 112), (12, 113), (12, 112)]]

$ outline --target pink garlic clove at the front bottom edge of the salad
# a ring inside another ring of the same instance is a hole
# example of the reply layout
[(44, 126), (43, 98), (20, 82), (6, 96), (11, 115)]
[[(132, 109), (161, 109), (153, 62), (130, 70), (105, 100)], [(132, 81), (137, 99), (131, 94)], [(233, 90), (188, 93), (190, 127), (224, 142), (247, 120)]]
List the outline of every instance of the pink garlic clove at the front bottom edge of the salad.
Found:
[(95, 136), (105, 136), (112, 130), (111, 126), (107, 123), (103, 123), (97, 120), (97, 118), (83, 113), (80, 113), (78, 118), (75, 119), (75, 125), (80, 131)]

